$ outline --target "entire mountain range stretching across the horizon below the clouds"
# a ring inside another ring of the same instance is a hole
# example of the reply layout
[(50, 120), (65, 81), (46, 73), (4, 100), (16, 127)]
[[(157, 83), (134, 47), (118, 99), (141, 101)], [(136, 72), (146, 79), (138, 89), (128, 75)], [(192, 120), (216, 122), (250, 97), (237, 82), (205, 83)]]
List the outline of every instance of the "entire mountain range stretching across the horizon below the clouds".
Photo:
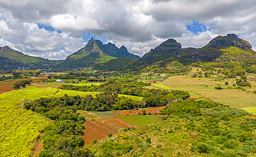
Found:
[(151, 64), (165, 65), (178, 61), (185, 64), (192, 62), (254, 62), (256, 52), (250, 43), (239, 39), (235, 34), (219, 36), (202, 48), (182, 48), (175, 39), (167, 39), (156, 48), (139, 57), (128, 52), (125, 46), (102, 44), (98, 39), (89, 40), (88, 44), (62, 61), (53, 61), (39, 57), (30, 57), (12, 50), (8, 46), (0, 47), (0, 70), (29, 68), (87, 68), (100, 71), (118, 71), (139, 69)]

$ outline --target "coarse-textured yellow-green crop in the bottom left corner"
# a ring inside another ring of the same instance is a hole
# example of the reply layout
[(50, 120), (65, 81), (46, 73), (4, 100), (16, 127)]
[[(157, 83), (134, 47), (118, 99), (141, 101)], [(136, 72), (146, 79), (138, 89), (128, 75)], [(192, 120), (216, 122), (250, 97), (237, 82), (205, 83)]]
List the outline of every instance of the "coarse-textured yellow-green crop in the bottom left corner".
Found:
[(34, 143), (49, 123), (24, 109), (0, 109), (0, 156), (30, 156)]

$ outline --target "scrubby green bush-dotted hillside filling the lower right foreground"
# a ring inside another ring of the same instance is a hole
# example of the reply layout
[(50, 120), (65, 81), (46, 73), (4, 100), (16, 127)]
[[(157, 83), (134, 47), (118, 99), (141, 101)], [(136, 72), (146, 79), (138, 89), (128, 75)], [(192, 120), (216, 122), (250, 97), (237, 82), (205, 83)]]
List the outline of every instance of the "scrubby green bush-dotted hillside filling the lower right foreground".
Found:
[(95, 156), (250, 156), (255, 153), (256, 121), (246, 111), (191, 100), (179, 102), (173, 108), (187, 110), (191, 104), (199, 108), (201, 115), (191, 110), (182, 113), (172, 110), (167, 118), (121, 116), (126, 120), (135, 118), (131, 120), (134, 124), (140, 120), (138, 117), (150, 118), (154, 123), (124, 129), (118, 135), (87, 145), (86, 149)]

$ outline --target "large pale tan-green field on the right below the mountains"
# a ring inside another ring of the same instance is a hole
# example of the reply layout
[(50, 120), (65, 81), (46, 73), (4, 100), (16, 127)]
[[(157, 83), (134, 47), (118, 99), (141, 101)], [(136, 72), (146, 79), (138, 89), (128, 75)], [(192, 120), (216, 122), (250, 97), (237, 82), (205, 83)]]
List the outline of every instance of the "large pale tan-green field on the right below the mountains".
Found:
[[(232, 79), (230, 82), (232, 82)], [(176, 89), (188, 91), (191, 98), (210, 98), (210, 100), (214, 102), (220, 102), (239, 109), (244, 107), (256, 107), (256, 94), (239, 91), (238, 89), (214, 89), (217, 85), (217, 82), (210, 81), (209, 78), (202, 79), (188, 76), (172, 76), (161, 83), (152, 84), (152, 86), (161, 89), (169, 88), (169, 90)], [(231, 87), (230, 85), (221, 86), (223, 88)], [(248, 88), (246, 88), (246, 90), (247, 89)], [(253, 88), (248, 90), (253, 91)]]

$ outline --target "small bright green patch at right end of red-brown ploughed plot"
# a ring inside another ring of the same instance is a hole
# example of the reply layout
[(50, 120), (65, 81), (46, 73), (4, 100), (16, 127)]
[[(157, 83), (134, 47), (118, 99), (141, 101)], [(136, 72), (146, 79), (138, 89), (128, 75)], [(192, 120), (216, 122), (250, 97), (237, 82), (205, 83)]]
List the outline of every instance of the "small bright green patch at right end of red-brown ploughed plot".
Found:
[(144, 115), (132, 115), (132, 116), (119, 116), (122, 120), (125, 120), (135, 126), (142, 126), (149, 124), (150, 122), (155, 122), (156, 119), (153, 119), (153, 116), (144, 116)]

